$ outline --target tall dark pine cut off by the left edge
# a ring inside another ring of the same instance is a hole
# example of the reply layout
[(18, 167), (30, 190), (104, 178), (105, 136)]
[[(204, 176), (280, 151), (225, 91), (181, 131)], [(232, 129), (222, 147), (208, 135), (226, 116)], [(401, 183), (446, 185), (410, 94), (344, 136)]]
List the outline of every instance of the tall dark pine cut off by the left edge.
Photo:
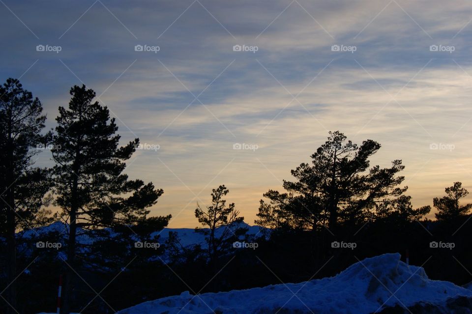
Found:
[[(46, 115), (38, 98), (9, 78), (0, 86), (0, 232), (7, 241), (8, 311), (16, 313), (17, 230), (40, 223), (36, 218), (50, 189), (46, 169), (32, 168), (32, 159), (46, 141), (41, 136)], [(43, 213), (44, 214), (44, 213)]]

